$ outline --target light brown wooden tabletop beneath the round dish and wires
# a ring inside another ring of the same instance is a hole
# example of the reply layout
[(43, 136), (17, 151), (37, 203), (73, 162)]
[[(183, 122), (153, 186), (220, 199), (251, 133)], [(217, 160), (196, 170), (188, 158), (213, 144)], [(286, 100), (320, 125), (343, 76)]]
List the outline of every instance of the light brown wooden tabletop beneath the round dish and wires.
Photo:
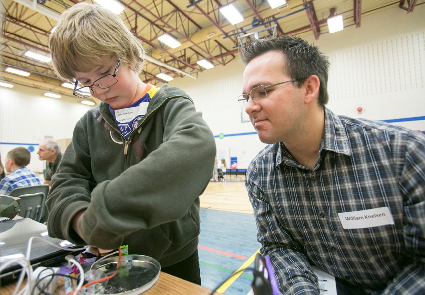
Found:
[[(15, 289), (15, 284), (1, 287), (2, 295), (11, 295)], [(58, 289), (55, 294), (66, 295), (63, 288), (63, 278), (58, 282)], [(211, 290), (191, 282), (182, 280), (168, 273), (161, 272), (156, 283), (143, 292), (143, 295), (209, 295)], [(219, 293), (214, 293), (219, 294)]]

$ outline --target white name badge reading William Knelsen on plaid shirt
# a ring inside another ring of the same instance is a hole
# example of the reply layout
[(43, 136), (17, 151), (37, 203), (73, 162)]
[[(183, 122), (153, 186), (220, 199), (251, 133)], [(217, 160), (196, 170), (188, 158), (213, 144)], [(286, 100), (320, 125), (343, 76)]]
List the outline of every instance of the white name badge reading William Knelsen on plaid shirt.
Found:
[(364, 229), (394, 224), (388, 207), (338, 213), (344, 229)]

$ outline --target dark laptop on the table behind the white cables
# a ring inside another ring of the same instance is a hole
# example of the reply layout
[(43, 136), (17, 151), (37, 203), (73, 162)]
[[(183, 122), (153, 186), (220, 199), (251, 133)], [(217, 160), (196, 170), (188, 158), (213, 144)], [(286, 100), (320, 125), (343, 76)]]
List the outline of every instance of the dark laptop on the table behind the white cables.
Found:
[[(56, 248), (44, 241), (51, 242), (63, 248), (81, 248), (68, 242), (49, 237), (47, 226), (30, 218), (13, 219), (0, 222), (0, 265), (13, 257), (25, 257), (30, 237), (37, 236), (43, 239), (32, 239), (30, 262), (35, 269), (38, 266), (57, 266), (65, 261), (68, 254), (76, 255), (82, 251), (67, 251)], [(0, 273), (0, 286), (17, 279), (22, 267), (13, 263)]]

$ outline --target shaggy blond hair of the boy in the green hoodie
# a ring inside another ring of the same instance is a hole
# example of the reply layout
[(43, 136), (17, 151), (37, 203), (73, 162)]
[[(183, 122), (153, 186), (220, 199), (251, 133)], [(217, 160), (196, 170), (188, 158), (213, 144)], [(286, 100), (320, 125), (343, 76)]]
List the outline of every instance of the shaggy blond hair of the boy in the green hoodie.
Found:
[(66, 10), (49, 36), (49, 47), (57, 75), (67, 81), (75, 72), (113, 60), (137, 74), (143, 68), (142, 44), (118, 15), (97, 4), (81, 2)]

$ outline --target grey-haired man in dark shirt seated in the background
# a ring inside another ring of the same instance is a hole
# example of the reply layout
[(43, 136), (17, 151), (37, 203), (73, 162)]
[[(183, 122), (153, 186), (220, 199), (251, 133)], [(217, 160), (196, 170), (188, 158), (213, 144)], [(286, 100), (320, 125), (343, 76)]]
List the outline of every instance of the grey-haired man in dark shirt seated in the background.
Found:
[(62, 159), (61, 146), (55, 140), (46, 139), (38, 146), (37, 154), (40, 160), (46, 160), (46, 173), (43, 183), (50, 186), (52, 176), (58, 169)]

